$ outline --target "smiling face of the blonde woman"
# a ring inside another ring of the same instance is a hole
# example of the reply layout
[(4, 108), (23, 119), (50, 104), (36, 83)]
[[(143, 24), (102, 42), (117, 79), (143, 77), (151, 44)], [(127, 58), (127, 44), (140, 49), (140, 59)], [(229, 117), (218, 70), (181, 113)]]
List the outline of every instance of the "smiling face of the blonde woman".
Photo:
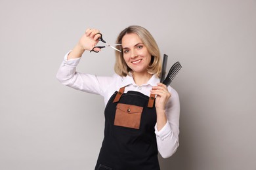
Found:
[(133, 70), (133, 74), (148, 73), (147, 69), (152, 56), (140, 37), (136, 33), (129, 33), (123, 36), (121, 43), (123, 46), (123, 59), (125, 59), (128, 67)]

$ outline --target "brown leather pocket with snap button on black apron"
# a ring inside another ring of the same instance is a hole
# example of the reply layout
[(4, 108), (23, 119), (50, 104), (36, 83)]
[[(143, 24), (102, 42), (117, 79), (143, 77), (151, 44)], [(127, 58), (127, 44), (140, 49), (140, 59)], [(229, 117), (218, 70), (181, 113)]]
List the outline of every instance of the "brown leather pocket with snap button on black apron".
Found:
[(143, 107), (118, 103), (114, 125), (139, 129), (142, 110)]

